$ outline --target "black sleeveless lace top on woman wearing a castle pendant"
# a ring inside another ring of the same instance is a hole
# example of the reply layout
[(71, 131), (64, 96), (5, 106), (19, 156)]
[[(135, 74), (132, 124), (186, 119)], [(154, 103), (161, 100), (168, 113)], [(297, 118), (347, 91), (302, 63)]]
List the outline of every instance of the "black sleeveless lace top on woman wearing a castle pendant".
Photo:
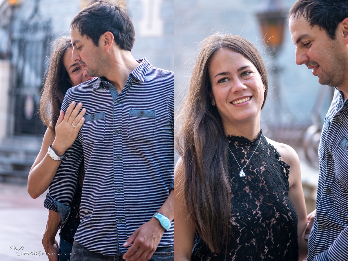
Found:
[(262, 131), (254, 141), (228, 137), (229, 148), (243, 168), (260, 138), (243, 169), (245, 177), (239, 176), (240, 167), (229, 152), (232, 237), (227, 254), (212, 253), (196, 233), (192, 261), (298, 260), (298, 218), (288, 196), (290, 167)]

